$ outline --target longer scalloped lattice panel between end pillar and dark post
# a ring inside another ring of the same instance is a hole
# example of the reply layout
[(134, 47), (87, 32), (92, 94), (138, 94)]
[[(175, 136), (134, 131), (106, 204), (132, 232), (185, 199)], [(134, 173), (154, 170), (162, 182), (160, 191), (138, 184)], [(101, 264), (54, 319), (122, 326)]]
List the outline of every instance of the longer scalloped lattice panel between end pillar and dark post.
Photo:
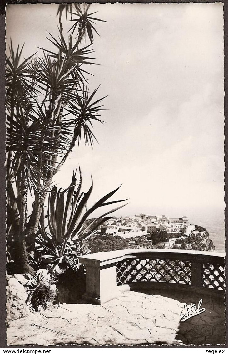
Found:
[(189, 261), (129, 259), (117, 263), (117, 285), (139, 281), (175, 282), (191, 285)]

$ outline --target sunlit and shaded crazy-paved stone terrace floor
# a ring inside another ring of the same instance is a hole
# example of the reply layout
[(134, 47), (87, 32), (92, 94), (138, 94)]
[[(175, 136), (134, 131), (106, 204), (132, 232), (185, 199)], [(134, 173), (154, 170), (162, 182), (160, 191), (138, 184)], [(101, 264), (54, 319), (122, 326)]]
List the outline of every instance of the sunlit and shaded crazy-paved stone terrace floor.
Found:
[(128, 291), (103, 306), (60, 304), (42, 313), (13, 320), (8, 345), (61, 344), (224, 344), (224, 303), (202, 296), (206, 310), (180, 322), (184, 303), (198, 303), (191, 292)]

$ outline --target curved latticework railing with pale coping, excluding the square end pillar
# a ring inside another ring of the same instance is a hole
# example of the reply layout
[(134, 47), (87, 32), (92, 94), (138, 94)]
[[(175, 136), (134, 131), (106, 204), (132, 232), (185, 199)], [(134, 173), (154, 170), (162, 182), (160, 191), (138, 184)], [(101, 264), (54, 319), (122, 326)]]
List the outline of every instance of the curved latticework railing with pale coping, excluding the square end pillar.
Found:
[(224, 290), (224, 257), (212, 252), (181, 250), (128, 253), (122, 262), (117, 263), (117, 285), (140, 281), (173, 282)]

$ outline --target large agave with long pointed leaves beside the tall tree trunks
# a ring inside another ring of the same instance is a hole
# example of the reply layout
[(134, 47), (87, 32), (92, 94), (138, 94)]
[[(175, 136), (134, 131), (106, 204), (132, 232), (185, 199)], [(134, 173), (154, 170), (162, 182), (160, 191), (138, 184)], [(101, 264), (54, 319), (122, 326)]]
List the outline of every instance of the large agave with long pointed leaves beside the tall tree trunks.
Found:
[[(61, 263), (69, 260), (68, 263), (72, 267), (72, 262), (77, 262), (78, 256), (89, 252), (85, 242), (97, 232), (99, 225), (111, 218), (107, 215), (126, 205), (105, 212), (86, 224), (88, 217), (98, 208), (126, 199), (107, 201), (117, 192), (118, 187), (87, 209), (86, 205), (93, 190), (93, 181), (87, 193), (81, 192), (81, 186), (82, 175), (79, 169), (78, 184), (75, 172), (69, 188), (58, 190), (54, 186), (49, 194), (47, 225), (45, 225), (45, 211), (43, 209), (39, 224), (39, 236), (37, 237), (37, 250), (43, 253), (42, 259), (48, 263)], [(75, 267), (77, 268), (77, 265)]]

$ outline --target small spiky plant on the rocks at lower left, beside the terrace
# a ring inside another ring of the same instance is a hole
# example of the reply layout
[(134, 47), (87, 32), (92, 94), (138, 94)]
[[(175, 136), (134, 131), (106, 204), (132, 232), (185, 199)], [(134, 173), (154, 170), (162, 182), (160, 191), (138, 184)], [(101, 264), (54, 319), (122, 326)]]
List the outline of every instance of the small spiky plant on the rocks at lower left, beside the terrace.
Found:
[(25, 284), (29, 296), (26, 304), (29, 302), (31, 309), (35, 312), (46, 310), (56, 296), (56, 290), (51, 285), (50, 280), (43, 276), (43, 271), (38, 271), (36, 275), (27, 275), (29, 281)]

